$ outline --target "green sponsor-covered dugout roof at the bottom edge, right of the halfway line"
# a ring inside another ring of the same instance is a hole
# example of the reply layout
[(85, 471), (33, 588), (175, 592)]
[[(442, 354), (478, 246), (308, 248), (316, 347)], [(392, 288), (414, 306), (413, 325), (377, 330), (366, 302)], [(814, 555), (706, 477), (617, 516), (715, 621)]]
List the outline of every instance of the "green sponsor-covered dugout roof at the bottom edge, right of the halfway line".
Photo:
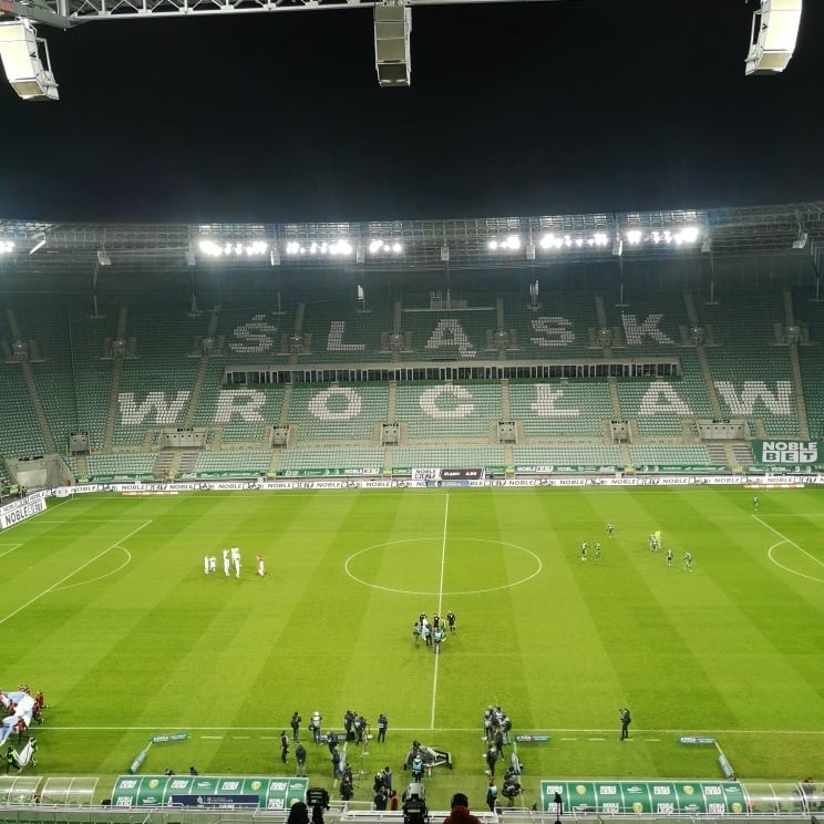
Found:
[(542, 781), (544, 812), (598, 815), (738, 815), (748, 810), (744, 789), (734, 781)]

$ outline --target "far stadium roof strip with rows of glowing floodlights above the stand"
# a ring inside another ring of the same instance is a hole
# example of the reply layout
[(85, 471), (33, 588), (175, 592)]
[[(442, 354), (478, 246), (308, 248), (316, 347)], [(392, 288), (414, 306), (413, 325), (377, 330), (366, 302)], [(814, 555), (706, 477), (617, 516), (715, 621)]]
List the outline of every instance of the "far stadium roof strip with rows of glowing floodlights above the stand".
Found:
[[(684, 239), (688, 238), (688, 239)], [(203, 241), (207, 241), (205, 245)], [(744, 256), (824, 241), (824, 200), (620, 214), (302, 224), (103, 224), (0, 219), (0, 272), (193, 266), (422, 270)], [(254, 246), (253, 246), (254, 245)]]

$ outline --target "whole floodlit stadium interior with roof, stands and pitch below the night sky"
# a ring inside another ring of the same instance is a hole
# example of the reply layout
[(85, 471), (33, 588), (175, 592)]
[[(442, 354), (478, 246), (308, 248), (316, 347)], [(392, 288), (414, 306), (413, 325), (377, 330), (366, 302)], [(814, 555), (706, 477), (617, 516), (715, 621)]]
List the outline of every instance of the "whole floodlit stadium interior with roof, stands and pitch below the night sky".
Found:
[[(190, 764), (250, 776), (243, 806), (293, 776), (295, 709), (326, 734), (354, 707), (389, 734), (347, 742), (351, 814), (384, 765), (403, 790), (412, 740), (450, 760), (432, 807), (456, 786), (480, 807), (503, 705), (524, 765), (505, 815), (562, 786), (569, 813), (631, 813), (586, 801), (605, 776), (668, 780), (680, 807), (650, 812), (694, 812), (701, 781), (732, 812), (737, 779), (750, 812), (814, 810), (820, 214), (4, 223), (0, 631), (37, 627), (7, 672), (48, 701), (7, 800), (99, 804), (121, 772), (159, 777), (115, 805), (156, 803)], [(412, 624), (446, 610), (429, 657)], [(310, 749), (337, 799), (327, 762)]]

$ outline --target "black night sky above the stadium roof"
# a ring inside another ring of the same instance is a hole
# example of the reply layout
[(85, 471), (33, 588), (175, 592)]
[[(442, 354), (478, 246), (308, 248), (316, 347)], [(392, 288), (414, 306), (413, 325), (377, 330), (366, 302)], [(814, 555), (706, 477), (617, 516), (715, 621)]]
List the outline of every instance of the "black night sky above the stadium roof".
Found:
[(0, 74), (0, 218), (365, 220), (824, 197), (824, 3), (745, 78), (744, 0), (413, 10), (380, 89), (371, 9), (40, 27), (59, 103)]

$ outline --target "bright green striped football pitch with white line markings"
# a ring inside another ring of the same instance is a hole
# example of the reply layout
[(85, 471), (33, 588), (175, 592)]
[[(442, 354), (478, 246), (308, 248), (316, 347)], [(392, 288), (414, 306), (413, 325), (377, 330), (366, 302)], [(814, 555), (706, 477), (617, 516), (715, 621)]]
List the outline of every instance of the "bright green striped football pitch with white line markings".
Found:
[[(293, 751), (284, 770), (278, 739), (295, 710), (310, 784), (333, 790), (328, 749), (306, 725), (319, 710), (325, 729), (341, 730), (351, 709), (375, 735), (348, 745), (364, 773), (357, 801), (371, 801), (371, 775), (387, 764), (395, 789), (409, 783), (402, 764), (418, 739), (454, 759), (426, 779), (430, 806), (460, 790), (480, 808), (490, 704), (515, 734), (549, 735), (518, 745), (527, 805), (540, 779), (721, 777), (713, 750), (677, 743), (690, 734), (717, 738), (742, 780), (797, 781), (820, 773), (824, 753), (824, 498), (765, 490), (755, 509), (752, 494), (52, 499), (0, 533), (0, 688), (45, 693), (34, 771), (100, 775), (102, 795), (152, 735), (178, 731), (188, 740), (153, 746), (143, 772), (292, 775)], [(239, 578), (223, 573), (231, 545)], [(204, 555), (217, 556), (215, 574)], [(447, 610), (456, 632), (441, 653), (416, 647), (419, 614)]]

